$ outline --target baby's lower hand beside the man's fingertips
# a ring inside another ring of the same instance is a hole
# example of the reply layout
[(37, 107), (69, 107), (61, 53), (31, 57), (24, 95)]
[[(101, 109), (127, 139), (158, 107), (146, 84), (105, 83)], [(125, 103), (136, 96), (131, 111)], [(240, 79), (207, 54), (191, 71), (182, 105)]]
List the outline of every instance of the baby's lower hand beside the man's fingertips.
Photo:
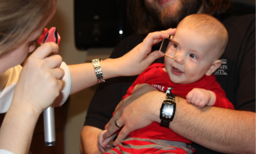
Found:
[(109, 137), (108, 139), (103, 139), (103, 134), (107, 132), (107, 130), (103, 130), (102, 132), (100, 132), (100, 134), (98, 135), (98, 148), (100, 151), (102, 151), (102, 153), (105, 153), (105, 149), (106, 148), (110, 148), (110, 144), (109, 142), (112, 141), (115, 137), (116, 134), (112, 135), (111, 137)]

